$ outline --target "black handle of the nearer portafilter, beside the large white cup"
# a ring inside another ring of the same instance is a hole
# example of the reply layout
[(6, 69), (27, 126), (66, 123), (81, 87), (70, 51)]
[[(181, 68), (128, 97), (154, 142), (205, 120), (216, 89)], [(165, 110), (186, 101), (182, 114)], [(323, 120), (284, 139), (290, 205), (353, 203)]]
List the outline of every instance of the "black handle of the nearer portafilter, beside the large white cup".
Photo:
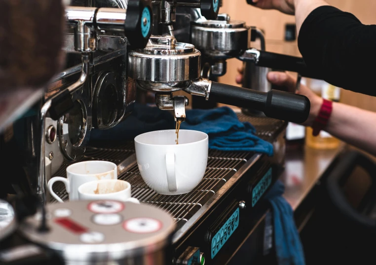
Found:
[(262, 111), (270, 118), (303, 123), (307, 120), (311, 104), (302, 95), (279, 90), (261, 92), (238, 86), (212, 82), (211, 100), (241, 108)]

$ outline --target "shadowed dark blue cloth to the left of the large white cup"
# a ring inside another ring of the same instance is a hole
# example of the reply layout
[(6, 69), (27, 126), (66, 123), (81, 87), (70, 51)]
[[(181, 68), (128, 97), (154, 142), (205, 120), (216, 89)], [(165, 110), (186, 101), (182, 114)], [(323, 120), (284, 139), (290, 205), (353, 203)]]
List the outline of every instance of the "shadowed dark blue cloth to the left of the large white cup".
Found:
[(168, 129), (175, 129), (171, 113), (159, 110), (156, 106), (135, 104), (132, 114), (115, 127), (109, 130), (92, 130), (90, 141), (133, 141), (137, 135)]

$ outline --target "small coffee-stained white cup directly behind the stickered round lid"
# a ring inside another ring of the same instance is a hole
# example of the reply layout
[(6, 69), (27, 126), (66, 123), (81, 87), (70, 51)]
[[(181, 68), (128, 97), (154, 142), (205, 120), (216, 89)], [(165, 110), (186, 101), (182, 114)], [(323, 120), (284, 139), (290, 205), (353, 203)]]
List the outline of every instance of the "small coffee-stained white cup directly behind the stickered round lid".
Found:
[(131, 185), (123, 180), (96, 180), (78, 187), (80, 200), (119, 200), (140, 203), (131, 196)]

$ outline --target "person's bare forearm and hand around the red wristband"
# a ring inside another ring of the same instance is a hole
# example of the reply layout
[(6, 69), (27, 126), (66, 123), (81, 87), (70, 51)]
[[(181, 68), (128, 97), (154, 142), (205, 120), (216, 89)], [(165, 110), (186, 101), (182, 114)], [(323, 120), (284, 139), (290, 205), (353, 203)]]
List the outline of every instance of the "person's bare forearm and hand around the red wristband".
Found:
[[(289, 90), (296, 87), (296, 79), (285, 73), (271, 72), (267, 77), (273, 84), (286, 86)], [(304, 85), (301, 85), (299, 94), (308, 97), (311, 102), (308, 120), (303, 125), (312, 126), (323, 100)], [(375, 124), (376, 113), (334, 102), (325, 131), (347, 144), (376, 155)]]

